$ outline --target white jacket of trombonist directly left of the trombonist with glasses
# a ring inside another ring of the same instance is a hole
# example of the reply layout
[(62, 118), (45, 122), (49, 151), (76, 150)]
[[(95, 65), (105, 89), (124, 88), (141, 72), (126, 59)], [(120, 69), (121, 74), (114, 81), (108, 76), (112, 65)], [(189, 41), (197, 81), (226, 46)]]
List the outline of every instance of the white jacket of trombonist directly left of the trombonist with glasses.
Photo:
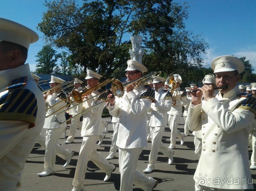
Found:
[[(86, 102), (83, 103), (83, 111), (93, 107), (92, 109), (83, 113), (83, 122), (81, 136), (88, 135), (102, 135), (102, 111), (105, 105), (104, 99), (99, 99), (98, 95), (102, 92), (101, 88), (94, 90), (90, 95), (88, 95)], [(93, 96), (96, 96), (92, 98)], [(91, 98), (91, 99), (89, 99)], [(84, 98), (86, 100), (86, 98)]]

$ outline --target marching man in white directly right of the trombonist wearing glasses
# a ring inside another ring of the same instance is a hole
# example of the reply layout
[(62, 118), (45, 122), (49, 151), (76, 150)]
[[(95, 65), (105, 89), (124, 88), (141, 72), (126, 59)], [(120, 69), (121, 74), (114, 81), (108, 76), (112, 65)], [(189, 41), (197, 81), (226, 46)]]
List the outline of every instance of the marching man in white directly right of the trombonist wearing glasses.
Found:
[(172, 94), (163, 89), (164, 78), (158, 76), (153, 80), (155, 90), (155, 102), (151, 104), (151, 118), (149, 122), (151, 134), (151, 151), (148, 158), (148, 167), (143, 170), (145, 173), (150, 173), (155, 169), (158, 151), (168, 157), (168, 164), (173, 162), (174, 151), (163, 144), (162, 136), (164, 127), (167, 122), (167, 111), (172, 107)]

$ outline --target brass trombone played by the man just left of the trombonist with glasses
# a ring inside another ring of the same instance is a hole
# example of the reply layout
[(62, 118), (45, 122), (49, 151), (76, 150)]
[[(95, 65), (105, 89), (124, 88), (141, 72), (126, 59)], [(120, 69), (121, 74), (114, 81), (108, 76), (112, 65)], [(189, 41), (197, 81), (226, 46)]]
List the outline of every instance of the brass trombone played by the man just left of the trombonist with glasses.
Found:
[[(106, 84), (108, 84), (109, 82), (113, 81), (114, 79), (115, 79), (115, 78), (112, 78), (112, 79), (110, 80), (110, 79), (108, 78), (107, 80), (105, 80), (105, 81), (103, 81), (103, 82), (101, 82), (101, 83), (97, 84), (96, 86), (91, 87), (91, 88), (89, 88), (89, 89), (87, 89), (86, 87), (84, 87), (82, 90), (80, 90), (80, 92), (78, 92), (78, 91), (76, 91), (76, 90), (73, 89), (73, 90), (72, 90), (72, 95), (69, 96), (69, 97), (67, 97), (66, 99), (68, 99), (68, 98), (70, 98), (70, 97), (73, 96), (73, 98), (75, 99), (74, 101), (76, 101), (78, 104), (76, 104), (76, 105), (70, 107), (70, 108), (67, 109), (67, 110), (70, 110), (70, 109), (76, 107), (77, 105), (79, 105), (80, 103), (83, 103), (83, 102), (82, 102), (82, 96), (83, 96), (84, 94), (86, 94), (87, 92), (93, 91), (93, 90), (95, 90), (95, 89), (97, 89), (97, 88), (99, 88), (99, 87), (103, 87), (103, 86), (105, 86)], [(94, 96), (94, 97), (95, 97), (95, 96)], [(66, 99), (65, 99), (65, 100), (66, 100)], [(51, 107), (47, 108), (46, 110), (49, 110), (50, 108), (56, 106), (57, 104), (61, 103), (62, 101), (65, 101), (65, 100), (61, 100), (60, 102), (58, 102), (58, 103), (52, 105)], [(60, 109), (56, 110), (55, 112), (53, 112), (53, 113), (51, 113), (51, 114), (49, 114), (48, 116), (45, 116), (45, 117), (49, 117), (49, 116), (51, 116), (51, 115), (54, 115), (54, 114), (57, 113), (59, 110), (62, 110), (64, 107), (67, 107), (67, 106), (71, 105), (74, 101), (71, 101), (69, 104), (66, 104), (65, 106), (61, 107)], [(66, 112), (67, 110), (65, 110), (64, 112)], [(61, 112), (61, 113), (63, 113), (63, 112)], [(59, 113), (58, 113), (58, 114), (59, 114)], [(69, 121), (69, 120), (68, 120), (68, 121)]]

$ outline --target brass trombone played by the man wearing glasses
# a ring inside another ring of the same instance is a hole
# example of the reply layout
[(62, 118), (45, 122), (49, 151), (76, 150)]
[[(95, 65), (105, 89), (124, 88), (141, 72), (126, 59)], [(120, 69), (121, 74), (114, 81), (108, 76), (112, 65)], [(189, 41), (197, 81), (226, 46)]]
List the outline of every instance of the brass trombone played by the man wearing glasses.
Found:
[[(100, 96), (100, 98), (99, 98), (98, 100), (105, 99), (104, 94), (106, 94), (106, 96), (107, 96), (107, 95), (108, 95), (107, 92), (109, 92), (111, 89), (112, 89), (113, 94), (114, 94), (115, 96), (117, 96), (117, 97), (120, 98), (120, 97), (122, 97), (122, 96), (124, 95), (124, 89), (125, 89), (125, 87), (127, 87), (127, 86), (129, 86), (129, 85), (131, 85), (131, 84), (135, 84), (135, 86), (138, 86), (138, 85), (141, 84), (141, 83), (147, 83), (148, 81), (153, 80), (154, 78), (156, 78), (156, 77), (159, 76), (160, 74), (161, 74), (161, 71), (158, 71), (158, 72), (151, 72), (151, 73), (149, 73), (149, 74), (147, 74), (147, 75), (141, 76), (141, 77), (138, 78), (138, 79), (135, 79), (135, 80), (129, 81), (129, 82), (125, 82), (125, 83), (122, 83), (121, 81), (112, 78), (111, 80), (108, 81), (108, 82), (111, 82), (111, 88), (109, 88), (109, 89), (107, 89), (107, 90), (105, 90), (105, 91), (103, 91), (103, 92), (101, 92), (101, 93), (99, 93), (99, 94), (97, 94), (97, 95), (95, 95), (95, 96), (89, 98), (89, 99), (86, 99), (86, 100), (80, 102), (79, 104), (83, 104), (84, 102), (86, 102), (86, 101), (88, 101), (88, 100), (90, 100), (90, 99), (92, 99), (92, 98), (95, 98), (95, 97), (97, 97), (97, 96)], [(100, 84), (98, 84), (98, 85), (100, 85)], [(101, 96), (101, 95), (102, 95), (102, 96)], [(102, 97), (102, 98), (101, 98), (101, 97)], [(111, 97), (111, 98), (108, 98), (108, 99), (105, 99), (105, 102), (108, 101), (109, 99), (112, 99), (112, 97)], [(79, 104), (77, 104), (77, 105), (79, 105)], [(99, 104), (102, 104), (102, 102), (99, 103)], [(85, 113), (85, 112), (88, 111), (88, 110), (91, 110), (92, 108), (96, 107), (96, 106), (99, 105), (99, 104), (96, 104), (96, 105), (94, 105), (94, 106), (88, 108), (87, 110), (84, 110), (84, 111), (80, 112), (79, 114), (74, 115), (74, 116), (70, 117), (69, 119), (67, 119), (67, 120), (65, 120), (65, 121), (62, 122), (62, 121), (59, 121), (59, 120), (57, 119), (57, 116), (59, 116), (60, 114), (62, 114), (62, 113), (64, 113), (64, 112), (67, 111), (67, 110), (64, 110), (64, 111), (58, 113), (58, 114), (55, 116), (56, 122), (58, 122), (59, 124), (68, 122), (69, 120), (73, 119), (74, 117), (79, 116), (79, 115)], [(72, 109), (72, 108), (76, 107), (77, 105), (75, 105), (75, 106), (73, 106), (73, 107), (70, 107), (69, 109)]]

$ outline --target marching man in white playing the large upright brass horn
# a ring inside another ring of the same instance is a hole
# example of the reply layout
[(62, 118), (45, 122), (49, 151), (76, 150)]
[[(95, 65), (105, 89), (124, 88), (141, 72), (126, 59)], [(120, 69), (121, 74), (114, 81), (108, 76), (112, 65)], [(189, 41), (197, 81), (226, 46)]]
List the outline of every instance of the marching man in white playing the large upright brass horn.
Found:
[(174, 74), (174, 81), (176, 82), (176, 87), (175, 93), (172, 96), (176, 97), (176, 100), (173, 99), (173, 106), (171, 110), (167, 112), (167, 114), (169, 114), (168, 121), (171, 130), (171, 143), (169, 146), (171, 149), (176, 148), (176, 137), (181, 139), (181, 145), (184, 143), (185, 134), (178, 130), (178, 125), (181, 119), (182, 106), (187, 104), (186, 92), (181, 91), (180, 88), (182, 83), (181, 76)]

